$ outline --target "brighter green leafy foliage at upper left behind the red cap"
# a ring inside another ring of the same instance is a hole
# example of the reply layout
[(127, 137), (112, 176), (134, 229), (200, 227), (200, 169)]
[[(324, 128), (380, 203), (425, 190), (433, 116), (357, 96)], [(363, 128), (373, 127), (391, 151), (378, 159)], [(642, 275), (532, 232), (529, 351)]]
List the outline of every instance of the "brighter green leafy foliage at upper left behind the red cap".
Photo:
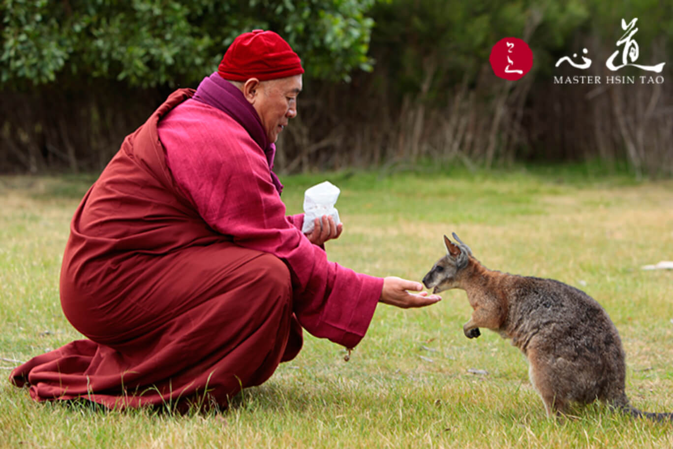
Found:
[(58, 77), (186, 85), (217, 67), (238, 34), (271, 29), (286, 38), (307, 75), (348, 79), (371, 69), (374, 0), (3, 0), (0, 86)]

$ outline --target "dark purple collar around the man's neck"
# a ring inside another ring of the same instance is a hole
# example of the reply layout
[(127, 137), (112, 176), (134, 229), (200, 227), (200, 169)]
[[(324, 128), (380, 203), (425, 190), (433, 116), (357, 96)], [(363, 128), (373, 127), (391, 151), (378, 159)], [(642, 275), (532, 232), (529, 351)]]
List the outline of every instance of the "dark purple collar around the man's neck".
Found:
[(262, 127), (262, 121), (257, 111), (243, 96), (243, 92), (232, 83), (229, 83), (229, 81), (223, 79), (219, 73), (215, 72), (201, 81), (197, 92), (192, 98), (226, 112), (248, 131), (252, 140), (260, 146), (264, 151), (264, 155), (267, 156), (271, 180), (280, 195), (283, 191), (283, 184), (281, 184), (281, 180), (273, 172), (276, 145), (269, 143), (267, 133), (264, 131), (264, 127)]

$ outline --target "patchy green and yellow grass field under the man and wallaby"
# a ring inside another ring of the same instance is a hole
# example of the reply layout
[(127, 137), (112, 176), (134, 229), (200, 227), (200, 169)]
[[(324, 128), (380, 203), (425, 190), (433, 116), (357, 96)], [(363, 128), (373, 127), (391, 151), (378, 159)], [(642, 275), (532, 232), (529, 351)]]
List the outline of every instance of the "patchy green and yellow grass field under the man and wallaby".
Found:
[[(0, 177), (0, 374), (81, 335), (59, 303), (69, 221), (94, 178)], [(420, 280), (456, 232), (491, 269), (552, 277), (596, 298), (627, 353), (627, 394), (673, 411), (673, 182), (600, 170), (322, 174), (283, 178), (288, 213), (328, 179), (343, 236), (330, 260)], [(418, 310), (378, 306), (342, 347), (306, 336), (299, 356), (225, 413), (176, 416), (34, 403), (0, 382), (0, 447), (12, 448), (670, 448), (673, 424), (592, 405), (547, 419), (526, 359), (489, 331), (468, 340), (463, 291)]]

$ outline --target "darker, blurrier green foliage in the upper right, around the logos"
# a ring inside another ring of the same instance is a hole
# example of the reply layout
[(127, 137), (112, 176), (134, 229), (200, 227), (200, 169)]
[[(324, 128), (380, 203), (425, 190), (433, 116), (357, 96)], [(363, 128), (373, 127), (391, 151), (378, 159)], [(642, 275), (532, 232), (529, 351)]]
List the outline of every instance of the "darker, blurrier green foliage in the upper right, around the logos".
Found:
[(371, 15), (377, 24), (371, 51), (386, 61), (380, 77), (392, 82), (394, 92), (420, 94), (439, 105), (455, 85), (476, 82), (501, 38), (528, 42), (534, 53), (529, 77), (548, 77), (559, 57), (582, 46), (592, 56), (609, 55), (623, 34), (623, 18), (638, 18), (635, 39), (643, 63), (662, 62), (649, 57), (653, 47), (670, 48), (673, 41), (673, 3), (659, 0), (392, 0), (378, 3)]

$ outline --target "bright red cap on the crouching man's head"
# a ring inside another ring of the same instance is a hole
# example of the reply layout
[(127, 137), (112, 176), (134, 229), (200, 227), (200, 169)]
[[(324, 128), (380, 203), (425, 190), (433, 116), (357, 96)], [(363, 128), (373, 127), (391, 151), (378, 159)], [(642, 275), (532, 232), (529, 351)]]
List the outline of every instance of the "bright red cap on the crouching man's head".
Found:
[(273, 31), (252, 30), (234, 39), (217, 73), (232, 81), (265, 81), (299, 75), (304, 69), (297, 53), (281, 36)]

